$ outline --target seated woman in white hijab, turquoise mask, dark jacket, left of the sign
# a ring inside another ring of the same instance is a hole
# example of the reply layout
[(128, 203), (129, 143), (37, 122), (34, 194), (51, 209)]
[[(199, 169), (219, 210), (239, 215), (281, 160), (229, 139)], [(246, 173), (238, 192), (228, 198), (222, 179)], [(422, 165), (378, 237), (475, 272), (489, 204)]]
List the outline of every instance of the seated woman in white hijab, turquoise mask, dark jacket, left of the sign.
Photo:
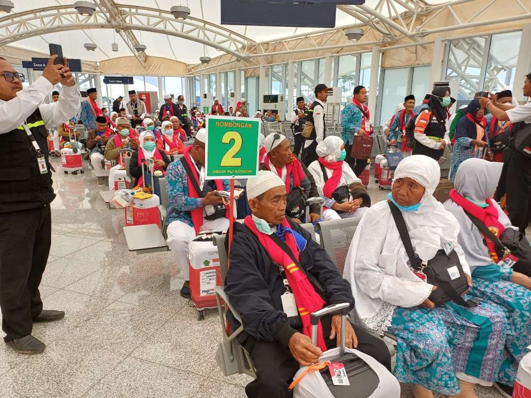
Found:
[(156, 148), (155, 135), (151, 131), (145, 130), (140, 133), (139, 143), (138, 150), (131, 154), (129, 164), (131, 176), (136, 178), (134, 186), (143, 184), (142, 163), (145, 163), (145, 159), (153, 160), (153, 170), (161, 170), (162, 174), (166, 174), (166, 167), (171, 162), (164, 150)]

